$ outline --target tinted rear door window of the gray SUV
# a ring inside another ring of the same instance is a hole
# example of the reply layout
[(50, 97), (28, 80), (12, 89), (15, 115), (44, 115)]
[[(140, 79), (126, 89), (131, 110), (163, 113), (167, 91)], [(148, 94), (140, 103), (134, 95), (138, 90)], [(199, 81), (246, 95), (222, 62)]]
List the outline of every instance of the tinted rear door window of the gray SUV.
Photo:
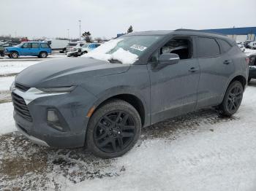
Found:
[(215, 39), (205, 37), (197, 38), (197, 56), (199, 58), (213, 57), (219, 54), (219, 44), (217, 44)]

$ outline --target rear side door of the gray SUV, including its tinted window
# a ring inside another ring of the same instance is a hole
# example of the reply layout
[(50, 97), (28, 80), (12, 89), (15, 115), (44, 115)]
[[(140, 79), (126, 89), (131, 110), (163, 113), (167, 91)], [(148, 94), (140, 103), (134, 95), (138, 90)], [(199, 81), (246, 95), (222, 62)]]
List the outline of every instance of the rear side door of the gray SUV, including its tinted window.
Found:
[(197, 59), (200, 66), (197, 109), (216, 106), (222, 101), (227, 80), (233, 74), (233, 61), (221, 52), (216, 38), (197, 36)]

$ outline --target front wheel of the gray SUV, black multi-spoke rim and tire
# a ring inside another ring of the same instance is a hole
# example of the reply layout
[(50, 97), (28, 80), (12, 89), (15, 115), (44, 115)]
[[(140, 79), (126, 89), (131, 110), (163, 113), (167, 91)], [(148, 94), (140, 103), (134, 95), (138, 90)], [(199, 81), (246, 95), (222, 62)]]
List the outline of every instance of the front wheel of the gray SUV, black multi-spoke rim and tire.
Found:
[(89, 121), (86, 144), (97, 157), (124, 155), (140, 138), (138, 111), (126, 101), (115, 99), (94, 112)]

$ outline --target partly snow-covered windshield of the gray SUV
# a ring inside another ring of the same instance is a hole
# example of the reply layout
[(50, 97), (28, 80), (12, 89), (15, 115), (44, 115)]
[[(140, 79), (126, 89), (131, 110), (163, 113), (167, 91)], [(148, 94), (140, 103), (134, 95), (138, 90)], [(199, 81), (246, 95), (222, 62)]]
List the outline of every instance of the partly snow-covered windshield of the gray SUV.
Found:
[(110, 63), (132, 64), (161, 36), (121, 36), (97, 47), (83, 57), (95, 58)]

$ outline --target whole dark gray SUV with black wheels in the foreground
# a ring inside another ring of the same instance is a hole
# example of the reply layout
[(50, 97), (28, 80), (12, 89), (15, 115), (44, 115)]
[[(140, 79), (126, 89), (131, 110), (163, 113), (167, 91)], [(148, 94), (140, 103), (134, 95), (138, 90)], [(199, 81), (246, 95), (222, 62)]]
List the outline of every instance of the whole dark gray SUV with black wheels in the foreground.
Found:
[(85, 56), (38, 63), (15, 78), (14, 119), (31, 141), (118, 157), (142, 127), (211, 106), (231, 116), (248, 79), (236, 42), (192, 30), (127, 34)]

